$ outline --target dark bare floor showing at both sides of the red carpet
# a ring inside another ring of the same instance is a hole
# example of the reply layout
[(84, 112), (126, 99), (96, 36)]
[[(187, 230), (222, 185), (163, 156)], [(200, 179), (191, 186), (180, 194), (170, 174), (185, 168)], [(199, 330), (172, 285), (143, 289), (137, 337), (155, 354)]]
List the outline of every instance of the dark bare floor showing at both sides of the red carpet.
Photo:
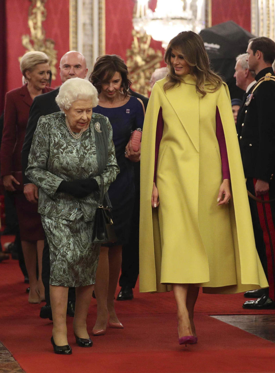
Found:
[[(226, 315), (212, 316), (227, 324), (275, 343), (274, 315)], [(0, 373), (24, 373), (17, 361), (0, 342)]]

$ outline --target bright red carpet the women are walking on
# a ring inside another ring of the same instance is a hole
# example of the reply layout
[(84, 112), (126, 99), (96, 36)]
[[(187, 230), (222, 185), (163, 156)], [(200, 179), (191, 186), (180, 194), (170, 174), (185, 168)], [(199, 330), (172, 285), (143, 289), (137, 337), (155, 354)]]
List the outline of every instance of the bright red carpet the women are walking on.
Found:
[[(75, 344), (68, 317), (73, 354), (60, 356), (50, 344), (51, 322), (39, 317), (41, 305), (27, 302), (27, 285), (22, 283), (17, 261), (0, 263), (0, 272), (0, 341), (27, 373), (275, 372), (272, 342), (202, 314), (233, 313), (241, 307), (241, 295), (201, 294), (196, 309), (199, 342), (185, 348), (177, 343), (172, 293), (136, 290), (134, 300), (116, 302), (124, 329), (107, 329), (105, 336), (93, 337), (92, 348)], [(93, 300), (88, 330), (95, 319)]]

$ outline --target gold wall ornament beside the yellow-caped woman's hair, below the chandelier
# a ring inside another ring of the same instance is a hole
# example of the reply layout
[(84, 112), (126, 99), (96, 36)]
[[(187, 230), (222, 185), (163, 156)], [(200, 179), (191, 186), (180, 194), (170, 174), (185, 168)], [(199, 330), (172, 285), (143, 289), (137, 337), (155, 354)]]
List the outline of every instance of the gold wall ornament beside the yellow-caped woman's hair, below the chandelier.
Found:
[(160, 50), (150, 47), (151, 36), (132, 31), (134, 40), (131, 49), (127, 49), (126, 65), (129, 78), (132, 80), (131, 88), (137, 93), (148, 96), (151, 91), (150, 78), (155, 69), (160, 67), (163, 55)]

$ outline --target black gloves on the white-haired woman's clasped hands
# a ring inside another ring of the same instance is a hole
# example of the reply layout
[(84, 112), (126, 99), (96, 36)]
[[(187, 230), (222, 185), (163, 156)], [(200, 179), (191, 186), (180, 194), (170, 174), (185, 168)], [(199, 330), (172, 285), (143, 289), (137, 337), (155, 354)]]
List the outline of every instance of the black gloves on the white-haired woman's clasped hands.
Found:
[(98, 190), (99, 186), (95, 179), (77, 179), (73, 181), (65, 181), (63, 180), (59, 187), (57, 188), (57, 192), (63, 192), (72, 195), (76, 198), (84, 198), (88, 194), (90, 194), (94, 190)]

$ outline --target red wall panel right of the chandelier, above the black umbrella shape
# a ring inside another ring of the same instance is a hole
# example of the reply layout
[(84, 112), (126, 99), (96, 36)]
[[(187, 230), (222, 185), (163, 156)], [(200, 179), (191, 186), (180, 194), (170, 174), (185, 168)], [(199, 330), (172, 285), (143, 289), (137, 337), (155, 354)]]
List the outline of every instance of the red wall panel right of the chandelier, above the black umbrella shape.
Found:
[(212, 26), (226, 21), (234, 21), (250, 32), (250, 0), (212, 0)]

